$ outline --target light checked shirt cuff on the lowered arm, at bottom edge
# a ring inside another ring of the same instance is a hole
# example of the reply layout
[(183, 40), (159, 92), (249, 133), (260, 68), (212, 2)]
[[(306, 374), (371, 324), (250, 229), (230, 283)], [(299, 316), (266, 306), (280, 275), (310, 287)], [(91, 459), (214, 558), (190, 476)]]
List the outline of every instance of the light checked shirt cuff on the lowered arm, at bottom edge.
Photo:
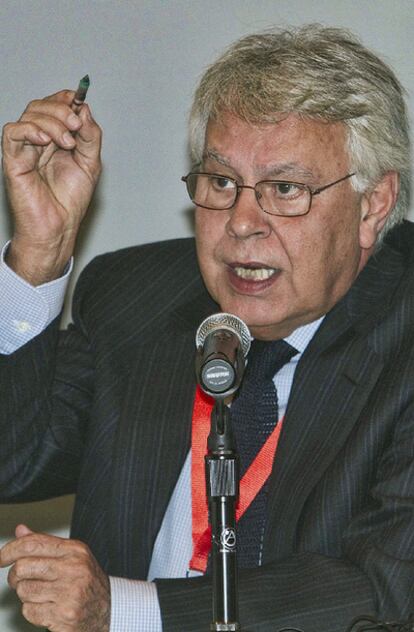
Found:
[(122, 577), (110, 577), (110, 632), (162, 632), (161, 611), (157, 587)]

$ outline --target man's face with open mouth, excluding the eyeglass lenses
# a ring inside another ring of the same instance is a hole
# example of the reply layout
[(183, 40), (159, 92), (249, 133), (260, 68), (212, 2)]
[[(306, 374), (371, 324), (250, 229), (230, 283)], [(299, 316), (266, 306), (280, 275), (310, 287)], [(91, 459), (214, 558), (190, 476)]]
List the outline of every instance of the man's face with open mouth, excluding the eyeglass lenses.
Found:
[[(289, 115), (252, 126), (231, 114), (210, 121), (202, 171), (254, 186), (260, 180), (317, 188), (350, 172), (341, 123)], [(243, 189), (227, 211), (197, 207), (201, 272), (221, 309), (253, 336), (276, 339), (328, 312), (345, 294), (370, 251), (360, 247), (361, 195), (350, 180), (312, 201), (307, 215), (264, 213)]]

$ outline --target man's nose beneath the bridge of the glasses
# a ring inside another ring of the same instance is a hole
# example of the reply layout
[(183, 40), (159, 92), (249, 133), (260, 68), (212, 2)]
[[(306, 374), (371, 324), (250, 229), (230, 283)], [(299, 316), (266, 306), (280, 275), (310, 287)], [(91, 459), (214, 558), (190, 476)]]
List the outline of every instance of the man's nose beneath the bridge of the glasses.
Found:
[(269, 215), (259, 206), (254, 187), (243, 185), (239, 189), (236, 204), (229, 211), (227, 233), (236, 239), (264, 238), (271, 232)]

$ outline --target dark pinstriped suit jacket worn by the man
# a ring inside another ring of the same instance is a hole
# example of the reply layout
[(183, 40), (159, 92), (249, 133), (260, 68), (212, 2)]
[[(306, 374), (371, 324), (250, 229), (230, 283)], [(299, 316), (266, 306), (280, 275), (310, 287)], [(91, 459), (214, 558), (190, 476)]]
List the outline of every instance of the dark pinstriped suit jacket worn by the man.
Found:
[[(240, 573), (243, 630), (414, 611), (413, 226), (388, 242), (297, 368), (264, 564)], [(192, 240), (92, 262), (74, 325), (0, 357), (1, 499), (76, 492), (73, 537), (112, 575), (145, 578), (190, 445), (194, 333), (218, 309)], [(208, 578), (157, 585), (165, 632), (208, 629)]]

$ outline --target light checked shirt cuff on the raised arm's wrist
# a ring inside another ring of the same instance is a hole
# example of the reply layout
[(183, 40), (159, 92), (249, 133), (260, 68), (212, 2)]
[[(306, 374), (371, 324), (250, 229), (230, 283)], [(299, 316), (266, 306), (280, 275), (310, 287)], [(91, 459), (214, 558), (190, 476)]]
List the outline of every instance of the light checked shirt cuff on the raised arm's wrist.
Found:
[(62, 277), (33, 287), (6, 264), (7, 246), (0, 256), (0, 353), (3, 354), (22, 347), (60, 314), (73, 267), (71, 260)]

